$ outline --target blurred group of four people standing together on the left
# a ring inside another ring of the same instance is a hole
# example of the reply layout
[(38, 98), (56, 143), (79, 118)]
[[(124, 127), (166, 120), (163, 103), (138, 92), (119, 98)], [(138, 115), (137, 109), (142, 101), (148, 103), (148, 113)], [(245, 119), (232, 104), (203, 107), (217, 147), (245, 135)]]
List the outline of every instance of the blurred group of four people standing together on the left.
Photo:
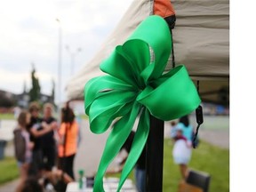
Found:
[(73, 164), (79, 131), (76, 116), (67, 105), (61, 108), (58, 123), (53, 111), (52, 104), (46, 103), (41, 117), (40, 106), (32, 102), (28, 110), (22, 110), (18, 116), (18, 126), (13, 132), (15, 156), (20, 168), (17, 192), (22, 191), (28, 178), (39, 180), (45, 171), (62, 171), (59, 172), (62, 179), (66, 176), (67, 180), (75, 180)]

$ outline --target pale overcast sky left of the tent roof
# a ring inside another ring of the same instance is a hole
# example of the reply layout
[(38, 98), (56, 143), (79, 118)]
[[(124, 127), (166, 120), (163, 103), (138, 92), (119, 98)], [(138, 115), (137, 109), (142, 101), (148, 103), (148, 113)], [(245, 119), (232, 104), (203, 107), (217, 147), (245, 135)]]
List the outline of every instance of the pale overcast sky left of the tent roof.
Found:
[[(76, 74), (92, 59), (131, 3), (132, 0), (0, 0), (0, 89), (21, 93), (26, 84), (29, 90), (32, 63), (43, 93), (52, 92), (52, 79), (58, 86), (58, 18), (63, 45), (61, 100), (65, 100), (64, 87), (72, 75), (71, 68)], [(79, 48), (81, 52), (77, 52)], [(59, 98), (57, 90), (56, 94)]]

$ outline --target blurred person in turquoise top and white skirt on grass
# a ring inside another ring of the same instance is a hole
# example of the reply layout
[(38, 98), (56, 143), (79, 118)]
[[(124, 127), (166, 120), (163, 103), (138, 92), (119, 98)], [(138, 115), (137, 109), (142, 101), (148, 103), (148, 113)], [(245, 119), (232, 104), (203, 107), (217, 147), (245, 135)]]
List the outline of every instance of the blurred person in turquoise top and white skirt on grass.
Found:
[(179, 123), (172, 127), (174, 146), (172, 156), (175, 164), (180, 165), (182, 180), (188, 176), (188, 163), (192, 154), (193, 127), (189, 124), (188, 116), (180, 117)]

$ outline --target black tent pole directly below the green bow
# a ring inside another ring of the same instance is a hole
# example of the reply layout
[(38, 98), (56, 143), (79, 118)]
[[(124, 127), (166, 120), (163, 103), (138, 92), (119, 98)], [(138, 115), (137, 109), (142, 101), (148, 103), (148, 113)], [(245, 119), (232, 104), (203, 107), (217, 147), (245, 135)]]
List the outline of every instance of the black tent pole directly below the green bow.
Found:
[(150, 116), (150, 130), (146, 145), (146, 191), (163, 189), (164, 121)]

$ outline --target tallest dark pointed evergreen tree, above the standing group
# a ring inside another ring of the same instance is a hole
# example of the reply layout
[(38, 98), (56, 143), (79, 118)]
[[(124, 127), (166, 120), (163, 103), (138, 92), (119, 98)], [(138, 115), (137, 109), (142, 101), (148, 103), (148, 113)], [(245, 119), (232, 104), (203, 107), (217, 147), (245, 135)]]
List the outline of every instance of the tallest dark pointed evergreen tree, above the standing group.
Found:
[(39, 79), (36, 77), (36, 69), (34, 64), (32, 63), (32, 71), (31, 71), (31, 82), (32, 87), (29, 91), (30, 101), (38, 101), (40, 99), (40, 84)]

